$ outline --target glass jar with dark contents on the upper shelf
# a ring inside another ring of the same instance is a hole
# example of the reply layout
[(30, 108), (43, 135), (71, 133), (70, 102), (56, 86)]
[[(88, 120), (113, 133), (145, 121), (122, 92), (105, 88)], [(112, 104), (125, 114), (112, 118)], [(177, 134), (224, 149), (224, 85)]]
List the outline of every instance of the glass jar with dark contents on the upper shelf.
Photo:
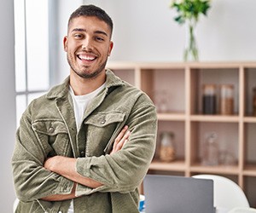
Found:
[(202, 112), (203, 114), (216, 114), (216, 85), (204, 84), (202, 95)]

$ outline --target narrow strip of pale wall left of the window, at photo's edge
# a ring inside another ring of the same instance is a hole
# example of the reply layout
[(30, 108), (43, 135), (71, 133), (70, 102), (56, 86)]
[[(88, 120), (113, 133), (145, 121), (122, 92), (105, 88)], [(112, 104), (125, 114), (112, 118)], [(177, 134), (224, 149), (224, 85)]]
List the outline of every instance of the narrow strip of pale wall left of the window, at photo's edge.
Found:
[(15, 30), (13, 1), (0, 7), (0, 211), (12, 212), (15, 199), (10, 158), (15, 144)]

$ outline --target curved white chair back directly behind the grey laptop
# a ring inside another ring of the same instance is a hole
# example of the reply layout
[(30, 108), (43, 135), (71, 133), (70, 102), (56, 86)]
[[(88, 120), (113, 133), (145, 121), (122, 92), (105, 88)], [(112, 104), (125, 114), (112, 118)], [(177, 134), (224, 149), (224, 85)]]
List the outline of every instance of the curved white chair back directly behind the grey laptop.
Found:
[(247, 209), (250, 207), (245, 193), (236, 182), (231, 181), (224, 176), (197, 175), (193, 177), (213, 180), (213, 204), (217, 210), (219, 208), (229, 211), (237, 207)]

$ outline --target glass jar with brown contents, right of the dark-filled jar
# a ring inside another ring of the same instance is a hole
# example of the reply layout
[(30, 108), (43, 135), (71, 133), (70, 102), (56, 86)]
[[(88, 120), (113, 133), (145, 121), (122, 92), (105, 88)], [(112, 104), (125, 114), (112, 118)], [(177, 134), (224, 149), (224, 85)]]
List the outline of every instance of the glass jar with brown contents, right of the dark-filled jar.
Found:
[(234, 113), (234, 86), (232, 84), (220, 85), (219, 113), (222, 115)]

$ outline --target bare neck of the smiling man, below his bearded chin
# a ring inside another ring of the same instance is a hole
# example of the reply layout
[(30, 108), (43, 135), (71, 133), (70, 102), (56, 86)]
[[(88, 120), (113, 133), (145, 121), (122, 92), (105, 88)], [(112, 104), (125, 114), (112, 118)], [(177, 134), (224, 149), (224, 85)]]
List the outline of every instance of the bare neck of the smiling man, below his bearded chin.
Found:
[(70, 86), (74, 95), (86, 95), (102, 86), (106, 81), (106, 73), (102, 72), (96, 78), (81, 78), (76, 74), (70, 73)]

